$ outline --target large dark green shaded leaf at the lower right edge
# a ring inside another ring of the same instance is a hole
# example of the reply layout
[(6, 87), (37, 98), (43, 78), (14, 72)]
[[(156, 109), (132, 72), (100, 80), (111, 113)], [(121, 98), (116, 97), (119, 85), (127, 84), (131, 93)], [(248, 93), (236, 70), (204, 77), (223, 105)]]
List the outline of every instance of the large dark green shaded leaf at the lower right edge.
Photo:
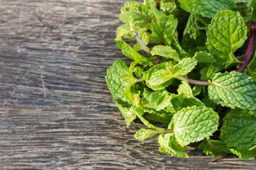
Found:
[(256, 111), (232, 110), (223, 121), (220, 139), (227, 146), (247, 150), (256, 147)]

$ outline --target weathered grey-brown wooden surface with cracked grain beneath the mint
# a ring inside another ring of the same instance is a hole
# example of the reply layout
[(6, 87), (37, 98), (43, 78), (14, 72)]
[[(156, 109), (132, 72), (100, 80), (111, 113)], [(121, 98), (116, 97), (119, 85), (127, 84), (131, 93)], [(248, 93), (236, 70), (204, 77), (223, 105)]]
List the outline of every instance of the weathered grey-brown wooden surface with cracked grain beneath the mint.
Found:
[(104, 76), (126, 0), (0, 0), (1, 170), (256, 169), (256, 160), (189, 159), (137, 141), (126, 128)]

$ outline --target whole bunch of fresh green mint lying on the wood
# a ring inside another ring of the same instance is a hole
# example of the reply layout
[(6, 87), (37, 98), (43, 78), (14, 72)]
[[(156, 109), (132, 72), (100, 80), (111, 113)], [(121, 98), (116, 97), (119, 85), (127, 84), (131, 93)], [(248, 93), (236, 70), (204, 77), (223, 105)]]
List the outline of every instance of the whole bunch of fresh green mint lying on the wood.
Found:
[(145, 0), (121, 8), (115, 41), (133, 61), (116, 60), (106, 82), (127, 128), (137, 118), (146, 126), (136, 139), (158, 135), (159, 151), (177, 157), (199, 141), (213, 157), (256, 156), (255, 7)]

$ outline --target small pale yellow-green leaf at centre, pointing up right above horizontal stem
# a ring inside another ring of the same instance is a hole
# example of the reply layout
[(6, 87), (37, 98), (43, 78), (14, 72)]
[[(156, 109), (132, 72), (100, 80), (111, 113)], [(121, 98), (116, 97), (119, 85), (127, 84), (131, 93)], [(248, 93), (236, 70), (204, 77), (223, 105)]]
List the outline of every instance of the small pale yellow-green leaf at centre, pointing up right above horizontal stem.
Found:
[(173, 67), (174, 77), (186, 75), (195, 68), (197, 60), (195, 58), (182, 58), (182, 60)]

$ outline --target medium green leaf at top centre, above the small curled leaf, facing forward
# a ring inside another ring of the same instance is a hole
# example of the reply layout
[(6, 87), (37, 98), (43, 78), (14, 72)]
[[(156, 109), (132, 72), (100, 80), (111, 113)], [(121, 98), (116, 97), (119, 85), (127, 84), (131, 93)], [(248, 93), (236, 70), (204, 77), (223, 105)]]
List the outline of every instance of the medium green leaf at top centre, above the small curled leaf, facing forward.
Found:
[(155, 16), (150, 24), (153, 40), (158, 44), (171, 45), (177, 24), (178, 21), (173, 18), (173, 15), (166, 16), (162, 13), (162, 15)]

